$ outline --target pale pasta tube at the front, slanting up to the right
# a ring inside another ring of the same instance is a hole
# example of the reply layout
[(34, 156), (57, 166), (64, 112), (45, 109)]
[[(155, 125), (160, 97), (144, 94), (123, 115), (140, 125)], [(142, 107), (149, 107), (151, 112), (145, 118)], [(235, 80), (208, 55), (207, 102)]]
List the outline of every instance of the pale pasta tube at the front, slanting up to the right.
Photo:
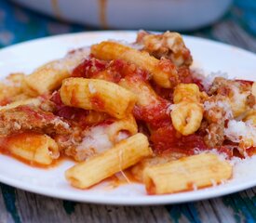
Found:
[(148, 139), (138, 133), (88, 161), (75, 164), (66, 171), (65, 177), (74, 187), (87, 189), (151, 154)]

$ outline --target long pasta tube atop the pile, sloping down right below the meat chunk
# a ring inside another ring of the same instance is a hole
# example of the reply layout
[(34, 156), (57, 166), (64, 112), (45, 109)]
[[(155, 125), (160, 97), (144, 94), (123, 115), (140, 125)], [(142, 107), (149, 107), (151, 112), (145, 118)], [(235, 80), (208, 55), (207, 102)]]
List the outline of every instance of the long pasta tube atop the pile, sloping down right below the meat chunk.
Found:
[(151, 72), (155, 83), (162, 87), (171, 88), (178, 83), (177, 69), (168, 59), (155, 59), (146, 52), (110, 41), (91, 46), (91, 53), (98, 59), (124, 59), (134, 63), (141, 69)]

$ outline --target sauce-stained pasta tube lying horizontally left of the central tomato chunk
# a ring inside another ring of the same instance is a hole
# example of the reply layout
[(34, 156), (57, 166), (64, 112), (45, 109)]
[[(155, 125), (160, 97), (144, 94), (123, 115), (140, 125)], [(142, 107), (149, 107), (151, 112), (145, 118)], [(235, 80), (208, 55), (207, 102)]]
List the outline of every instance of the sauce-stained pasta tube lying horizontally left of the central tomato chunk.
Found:
[(98, 79), (68, 78), (61, 85), (65, 105), (106, 112), (121, 119), (128, 115), (137, 100), (127, 89)]

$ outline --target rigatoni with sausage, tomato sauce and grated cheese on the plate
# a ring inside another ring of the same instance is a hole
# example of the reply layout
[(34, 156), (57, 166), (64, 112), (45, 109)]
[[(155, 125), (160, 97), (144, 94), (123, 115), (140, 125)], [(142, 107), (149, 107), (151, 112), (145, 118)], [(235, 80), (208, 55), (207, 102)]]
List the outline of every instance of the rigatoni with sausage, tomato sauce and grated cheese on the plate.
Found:
[(141, 31), (11, 73), (0, 83), (0, 151), (37, 167), (69, 157), (63, 175), (78, 189), (119, 172), (148, 194), (225, 183), (231, 159), (256, 153), (256, 84), (192, 63), (181, 34)]

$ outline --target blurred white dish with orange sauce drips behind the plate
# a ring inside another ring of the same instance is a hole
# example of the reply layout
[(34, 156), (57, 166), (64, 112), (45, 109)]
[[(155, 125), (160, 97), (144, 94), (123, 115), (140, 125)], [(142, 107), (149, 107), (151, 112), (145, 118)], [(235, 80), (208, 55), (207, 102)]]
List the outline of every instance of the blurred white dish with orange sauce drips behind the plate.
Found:
[(13, 0), (47, 15), (112, 29), (192, 30), (218, 20), (232, 0)]

